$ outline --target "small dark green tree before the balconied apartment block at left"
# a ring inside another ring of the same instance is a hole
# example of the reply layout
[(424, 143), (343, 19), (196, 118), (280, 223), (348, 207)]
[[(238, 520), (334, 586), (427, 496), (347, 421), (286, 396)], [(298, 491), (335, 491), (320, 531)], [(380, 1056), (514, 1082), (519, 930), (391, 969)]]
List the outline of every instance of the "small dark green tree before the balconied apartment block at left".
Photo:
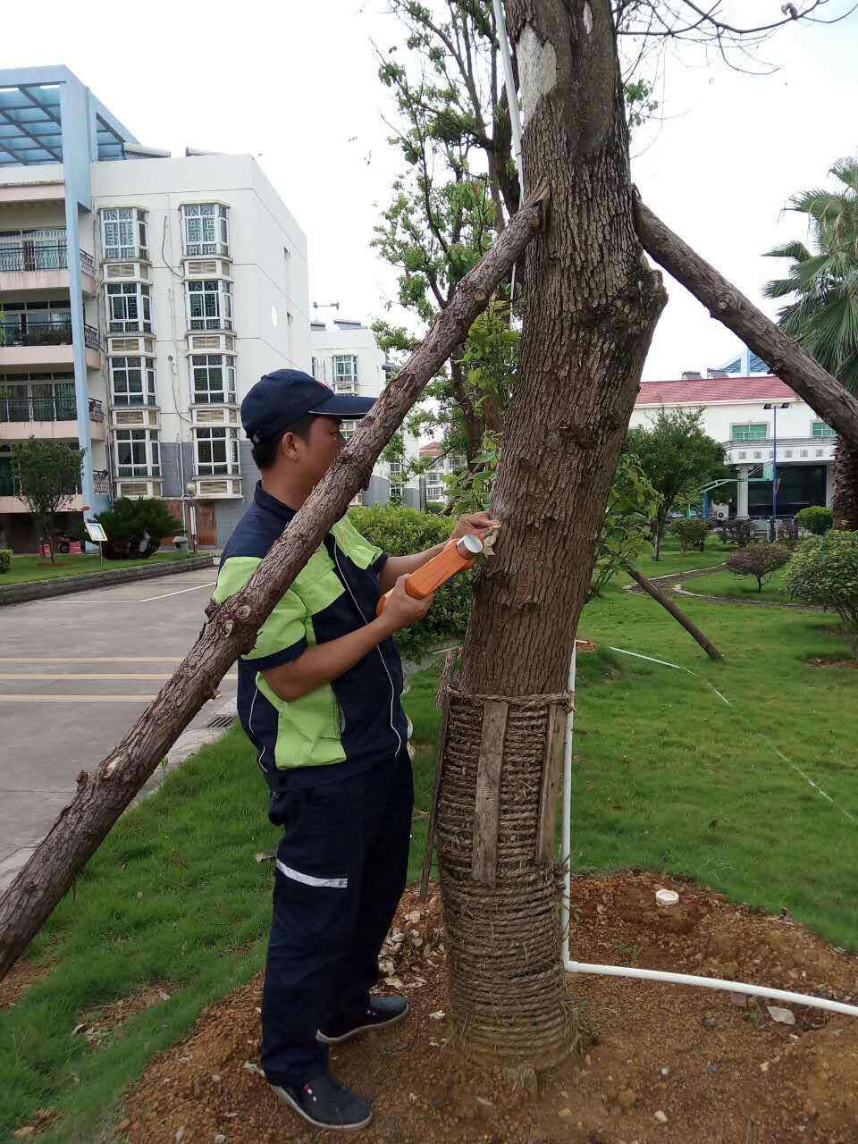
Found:
[(70, 511), (72, 498), (80, 492), (85, 452), (62, 440), (37, 437), (19, 442), (13, 448), (17, 495), (38, 521), (42, 543), (46, 539), (49, 542), (51, 564), (56, 553), (54, 515)]

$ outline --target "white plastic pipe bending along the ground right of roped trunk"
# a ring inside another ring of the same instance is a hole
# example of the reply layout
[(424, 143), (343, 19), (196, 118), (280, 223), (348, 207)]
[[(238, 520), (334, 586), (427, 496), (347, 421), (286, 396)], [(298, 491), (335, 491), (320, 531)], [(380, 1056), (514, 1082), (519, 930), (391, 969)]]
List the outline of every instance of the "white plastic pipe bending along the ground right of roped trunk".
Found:
[[(639, 656), (638, 652), (614, 648), (612, 651), (623, 651), (628, 656), (649, 659), (665, 667), (681, 668), (678, 664)], [(575, 691), (577, 643), (572, 645), (572, 659), (569, 665), (569, 690)], [(694, 675), (693, 672), (689, 672)], [(706, 682), (706, 681), (704, 681)], [(713, 689), (714, 690), (714, 689)], [(716, 692), (721, 699), (724, 697)], [(724, 700), (726, 702), (728, 700)], [(561, 935), (563, 940), (563, 968), (567, 974), (598, 974), (605, 977), (631, 977), (645, 982), (668, 982), (673, 985), (697, 985), (706, 990), (722, 990), (728, 993), (747, 993), (750, 996), (771, 998), (774, 1001), (786, 1001), (789, 1004), (809, 1006), (815, 1009), (827, 1009), (829, 1012), (841, 1012), (849, 1017), (858, 1017), (858, 1006), (844, 1004), (842, 1001), (828, 1001), (825, 998), (810, 996), (807, 993), (792, 993), (787, 990), (772, 990), (764, 985), (749, 985), (745, 982), (731, 982), (721, 977), (698, 977), (693, 974), (672, 974), (660, 969), (633, 969), (626, 966), (597, 966), (586, 961), (573, 961), (569, 955), (570, 946), (570, 911), (572, 901), (572, 707), (566, 716), (566, 740), (563, 745), (563, 837), (561, 839), (561, 861), (565, 865), (563, 897), (561, 898)], [(565, 851), (565, 852), (564, 852)]]

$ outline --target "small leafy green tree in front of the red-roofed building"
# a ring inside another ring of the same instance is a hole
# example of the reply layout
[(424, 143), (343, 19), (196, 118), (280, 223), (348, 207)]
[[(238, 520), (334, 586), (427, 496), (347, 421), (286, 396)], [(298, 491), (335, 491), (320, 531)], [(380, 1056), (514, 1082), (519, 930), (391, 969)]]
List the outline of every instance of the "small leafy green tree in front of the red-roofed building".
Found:
[(629, 429), (628, 451), (650, 478), (661, 502), (653, 519), (653, 558), (661, 555), (661, 541), (670, 510), (682, 496), (701, 485), (729, 477), (724, 450), (704, 432), (702, 413), (693, 410), (659, 410), (649, 426)]

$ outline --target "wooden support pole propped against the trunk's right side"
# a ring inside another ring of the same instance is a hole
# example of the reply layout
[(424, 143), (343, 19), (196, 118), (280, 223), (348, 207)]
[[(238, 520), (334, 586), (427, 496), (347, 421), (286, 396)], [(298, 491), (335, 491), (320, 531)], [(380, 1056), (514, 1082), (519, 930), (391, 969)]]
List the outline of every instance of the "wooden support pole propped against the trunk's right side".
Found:
[(713, 318), (766, 362), (772, 373), (803, 397), (852, 448), (858, 448), (858, 399), (638, 198), (635, 221), (646, 253), (702, 302)]

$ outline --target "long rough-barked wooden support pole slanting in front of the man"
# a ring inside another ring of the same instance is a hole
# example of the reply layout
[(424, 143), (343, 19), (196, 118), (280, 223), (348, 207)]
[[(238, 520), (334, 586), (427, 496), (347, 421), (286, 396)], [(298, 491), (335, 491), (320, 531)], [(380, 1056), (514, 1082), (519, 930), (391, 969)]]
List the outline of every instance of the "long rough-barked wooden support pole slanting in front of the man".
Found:
[(39, 931), (101, 841), (167, 750), (208, 700), (236, 659), (253, 648), (277, 601), (321, 543), (331, 525), (364, 487), (382, 448), (402, 424), (427, 382), (492, 291), (535, 236), (547, 191), (525, 204), (501, 238), (462, 279), (423, 342), (379, 398), (371, 414), (276, 541), (249, 582), (221, 607), (118, 747), (90, 776), (82, 776), (65, 807), (0, 898), (0, 977)]

